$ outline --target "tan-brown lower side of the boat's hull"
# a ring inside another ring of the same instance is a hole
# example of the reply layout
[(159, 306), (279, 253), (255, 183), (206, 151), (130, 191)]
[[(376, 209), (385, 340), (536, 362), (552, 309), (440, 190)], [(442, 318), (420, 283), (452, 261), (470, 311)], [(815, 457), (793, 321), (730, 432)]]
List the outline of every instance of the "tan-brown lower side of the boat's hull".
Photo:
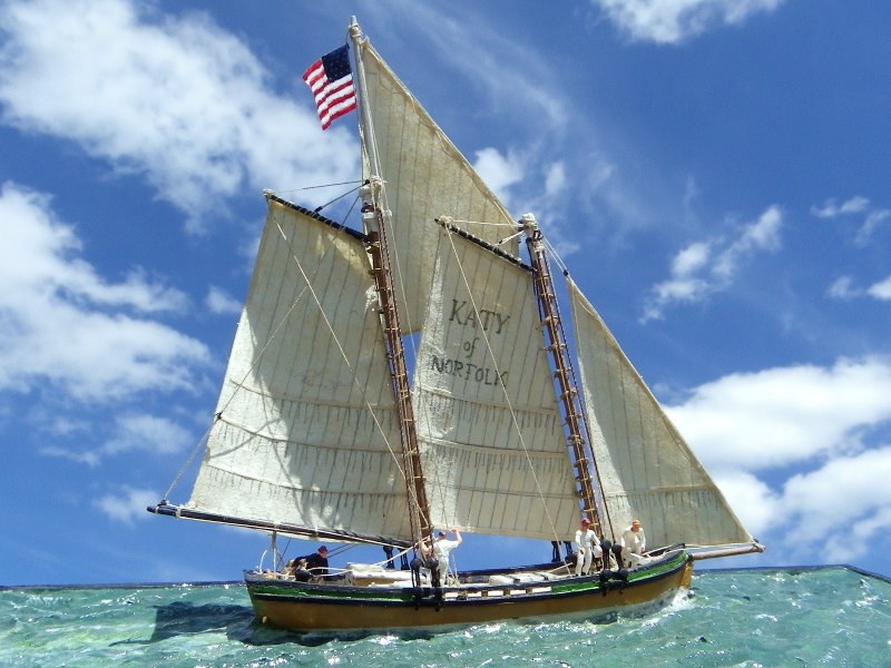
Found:
[(687, 562), (667, 577), (613, 587), (604, 595), (591, 591), (556, 595), (545, 599), (522, 596), (486, 601), (446, 601), (440, 609), (422, 605), (382, 606), (354, 601), (263, 600), (253, 598), (257, 619), (293, 631), (382, 631), (440, 629), (507, 620), (596, 619), (616, 611), (657, 609), (670, 602), (675, 592), (689, 586), (693, 563)]

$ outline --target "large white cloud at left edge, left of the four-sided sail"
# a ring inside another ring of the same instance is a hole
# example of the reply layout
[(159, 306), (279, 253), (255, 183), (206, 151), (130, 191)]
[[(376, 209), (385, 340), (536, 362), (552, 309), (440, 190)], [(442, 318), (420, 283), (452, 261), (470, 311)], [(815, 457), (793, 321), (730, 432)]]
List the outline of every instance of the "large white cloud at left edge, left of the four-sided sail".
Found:
[(140, 272), (102, 279), (49, 205), (13, 184), (0, 189), (0, 391), (49, 382), (104, 401), (190, 387), (209, 358), (204, 344), (131, 314), (179, 308), (184, 295)]

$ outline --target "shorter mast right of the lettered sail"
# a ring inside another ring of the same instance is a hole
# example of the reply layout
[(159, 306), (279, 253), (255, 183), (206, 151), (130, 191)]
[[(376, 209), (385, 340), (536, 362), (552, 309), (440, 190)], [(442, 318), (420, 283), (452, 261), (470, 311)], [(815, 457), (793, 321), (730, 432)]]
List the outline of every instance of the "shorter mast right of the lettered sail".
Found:
[(593, 455), (589, 456), (589, 453), (591, 453), (591, 449), (588, 439), (585, 438), (588, 432), (587, 423), (581, 409), (581, 399), (574, 382), (575, 373), (567, 352), (566, 335), (557, 307), (557, 295), (545, 253), (545, 239), (532, 214), (526, 214), (520, 219), (520, 226), (526, 233), (526, 246), (529, 250), (530, 264), (535, 269), (536, 297), (541, 313), (541, 326), (547, 331), (550, 343), (546, 350), (551, 355), (555, 367), (554, 377), (559, 385), (557, 399), (562, 407), (567, 446), (572, 453), (576, 468), (581, 512), (591, 521), (595, 532), (604, 536), (590, 474)]

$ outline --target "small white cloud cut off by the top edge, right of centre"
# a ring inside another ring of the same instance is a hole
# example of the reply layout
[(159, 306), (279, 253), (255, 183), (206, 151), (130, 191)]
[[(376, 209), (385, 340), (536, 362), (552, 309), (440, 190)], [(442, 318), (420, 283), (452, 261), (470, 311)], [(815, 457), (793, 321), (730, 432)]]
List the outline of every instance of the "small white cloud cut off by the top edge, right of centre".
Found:
[(714, 27), (736, 26), (783, 0), (593, 0), (631, 39), (675, 43)]

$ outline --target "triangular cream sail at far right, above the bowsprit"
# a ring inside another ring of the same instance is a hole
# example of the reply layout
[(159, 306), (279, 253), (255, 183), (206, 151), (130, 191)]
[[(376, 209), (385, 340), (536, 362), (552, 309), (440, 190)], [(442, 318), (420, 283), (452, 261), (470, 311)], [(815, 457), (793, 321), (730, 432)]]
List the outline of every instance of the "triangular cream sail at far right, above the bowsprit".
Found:
[(594, 306), (568, 284), (593, 448), (614, 536), (637, 518), (653, 548), (751, 542)]

